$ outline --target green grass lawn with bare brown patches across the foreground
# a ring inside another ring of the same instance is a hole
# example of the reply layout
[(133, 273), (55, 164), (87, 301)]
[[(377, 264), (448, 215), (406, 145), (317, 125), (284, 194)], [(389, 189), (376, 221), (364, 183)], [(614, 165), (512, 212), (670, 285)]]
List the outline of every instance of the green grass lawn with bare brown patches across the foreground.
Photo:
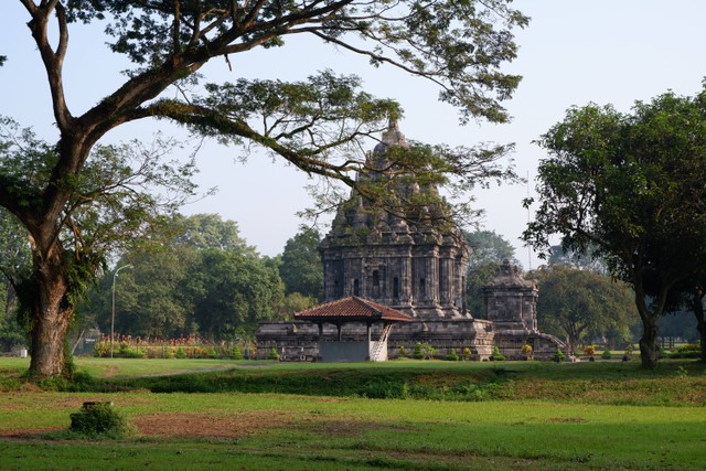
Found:
[[(706, 465), (706, 372), (694, 362), (664, 362), (654, 372), (637, 362), (76, 363), (107, 379), (89, 385), (94, 392), (21, 385), (0, 393), (0, 469)], [(149, 373), (145, 364), (153, 366)], [(25, 367), (18, 358), (0, 358), (6, 376)], [(224, 367), (229, 370), (118, 378)], [(179, 392), (189, 384), (211, 392)], [(107, 385), (121, 390), (97, 392)], [(153, 392), (159, 389), (173, 392)], [(389, 397), (371, 398), (375, 394)], [(62, 430), (85, 400), (111, 400), (136, 427), (135, 436), (68, 440)]]

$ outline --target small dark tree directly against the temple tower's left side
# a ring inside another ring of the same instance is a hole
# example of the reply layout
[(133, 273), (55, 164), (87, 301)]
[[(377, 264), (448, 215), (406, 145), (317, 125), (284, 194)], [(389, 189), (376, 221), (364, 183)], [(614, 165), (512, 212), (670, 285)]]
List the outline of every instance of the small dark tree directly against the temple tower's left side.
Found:
[(287, 240), (279, 266), (279, 276), (285, 282), (285, 293), (298, 292), (319, 301), (323, 300), (323, 264), (319, 254), (320, 243), (319, 232), (307, 227)]

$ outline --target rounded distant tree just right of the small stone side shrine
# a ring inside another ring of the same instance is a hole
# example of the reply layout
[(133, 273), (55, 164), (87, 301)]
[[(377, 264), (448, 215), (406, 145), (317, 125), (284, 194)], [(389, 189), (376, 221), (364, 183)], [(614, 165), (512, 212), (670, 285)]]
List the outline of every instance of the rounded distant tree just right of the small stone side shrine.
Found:
[(635, 308), (629, 285), (564, 265), (543, 266), (532, 277), (539, 288), (537, 322), (544, 332), (566, 338), (569, 353), (576, 353), (586, 336), (630, 340)]

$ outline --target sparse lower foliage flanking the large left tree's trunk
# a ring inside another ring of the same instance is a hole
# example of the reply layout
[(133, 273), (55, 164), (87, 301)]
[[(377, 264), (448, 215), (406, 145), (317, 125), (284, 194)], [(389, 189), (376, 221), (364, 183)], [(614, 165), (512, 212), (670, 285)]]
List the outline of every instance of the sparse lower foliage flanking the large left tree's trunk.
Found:
[[(31, 207), (50, 185), (58, 153), (10, 118), (0, 118), (0, 175), (7, 191), (21, 207)], [(193, 160), (184, 163), (168, 157), (176, 146), (159, 136), (151, 147), (137, 141), (96, 146), (82, 173), (62, 181), (71, 196), (58, 215), (55, 243), (63, 247), (67, 306), (75, 306), (86, 293), (108, 257), (153, 232), (162, 214), (194, 194)], [(3, 215), (26, 224), (19, 216)], [(26, 227), (11, 224), (4, 237), (14, 238), (7, 243), (14, 253), (6, 259), (9, 266), (3, 272), (21, 287), (17, 290), (21, 308), (30, 310), (40, 277), (29, 269), (28, 243), (22, 240), (36, 244), (38, 237), (28, 234)]]

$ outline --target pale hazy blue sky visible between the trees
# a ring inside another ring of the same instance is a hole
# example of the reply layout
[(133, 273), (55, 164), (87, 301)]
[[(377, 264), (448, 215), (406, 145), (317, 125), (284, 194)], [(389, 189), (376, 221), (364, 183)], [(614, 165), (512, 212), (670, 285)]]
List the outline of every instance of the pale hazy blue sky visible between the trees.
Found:
[[(39, 54), (33, 45), (28, 15), (17, 1), (4, 2), (0, 18), (0, 114), (52, 139), (55, 129), (49, 108), (49, 90)], [(527, 223), (522, 200), (534, 188), (537, 162), (544, 157), (532, 141), (565, 110), (589, 101), (611, 103), (628, 111), (634, 100), (672, 89), (694, 95), (706, 76), (706, 2), (703, 0), (518, 0), (515, 8), (532, 22), (517, 31), (518, 58), (507, 72), (524, 76), (514, 98), (506, 103), (514, 119), (509, 125), (459, 126), (457, 111), (437, 101), (438, 90), (425, 81), (391, 68), (372, 68), (367, 61), (306, 39), (289, 39), (281, 49), (232, 56), (233, 72), (214, 60), (202, 72), (206, 79), (303, 79), (317, 71), (333, 68), (355, 73), (367, 90), (397, 99), (405, 109), (400, 130), (408, 139), (428, 143), (472, 146), (479, 141), (515, 142), (517, 172), (530, 176), (524, 185), (477, 193), (477, 205), (486, 211), (484, 228), (503, 235), (516, 247), (525, 268), (530, 253), (518, 237)], [(97, 103), (124, 78), (128, 65), (106, 53), (97, 29), (73, 26), (65, 66), (69, 108), (77, 115)], [(107, 139), (150, 139), (157, 129), (179, 135), (179, 128), (160, 122), (139, 122), (111, 131)], [(372, 148), (373, 143), (371, 143)], [(218, 186), (215, 196), (184, 207), (184, 213), (218, 213), (237, 222), (242, 235), (265, 255), (281, 253), (302, 223), (295, 213), (309, 205), (303, 186), (307, 176), (293, 168), (254, 154), (236, 163), (238, 150), (215, 144), (199, 154), (199, 182)], [(538, 261), (533, 255), (532, 266)]]

